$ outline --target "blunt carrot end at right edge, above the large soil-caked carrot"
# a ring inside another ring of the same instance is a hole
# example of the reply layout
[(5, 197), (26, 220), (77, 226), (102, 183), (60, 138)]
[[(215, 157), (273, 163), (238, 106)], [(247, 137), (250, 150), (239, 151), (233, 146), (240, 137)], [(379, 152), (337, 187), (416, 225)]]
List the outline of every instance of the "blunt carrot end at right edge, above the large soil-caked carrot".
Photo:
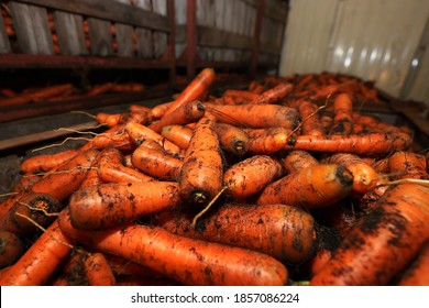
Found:
[(426, 162), (422, 162), (419, 157), (421, 156), (413, 152), (397, 151), (393, 153), (387, 160), (392, 178), (428, 179)]

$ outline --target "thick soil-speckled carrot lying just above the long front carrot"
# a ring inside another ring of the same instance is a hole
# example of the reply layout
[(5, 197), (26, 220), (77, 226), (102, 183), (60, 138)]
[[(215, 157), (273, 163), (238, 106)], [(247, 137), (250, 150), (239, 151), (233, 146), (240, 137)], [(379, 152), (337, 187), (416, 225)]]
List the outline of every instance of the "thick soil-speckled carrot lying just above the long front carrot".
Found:
[(260, 251), (289, 264), (310, 258), (318, 242), (311, 215), (286, 205), (226, 204), (201, 218), (196, 228), (187, 213), (163, 212), (158, 219), (175, 234)]

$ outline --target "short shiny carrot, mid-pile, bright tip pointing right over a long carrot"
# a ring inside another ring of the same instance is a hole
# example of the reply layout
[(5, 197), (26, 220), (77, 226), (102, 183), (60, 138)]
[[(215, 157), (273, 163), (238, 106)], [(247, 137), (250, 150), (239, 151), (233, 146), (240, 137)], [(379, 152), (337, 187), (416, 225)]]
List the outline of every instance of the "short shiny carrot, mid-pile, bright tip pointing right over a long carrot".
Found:
[(295, 134), (292, 130), (285, 128), (266, 129), (243, 129), (249, 135), (249, 153), (253, 154), (274, 154), (286, 147), (287, 144), (295, 142)]

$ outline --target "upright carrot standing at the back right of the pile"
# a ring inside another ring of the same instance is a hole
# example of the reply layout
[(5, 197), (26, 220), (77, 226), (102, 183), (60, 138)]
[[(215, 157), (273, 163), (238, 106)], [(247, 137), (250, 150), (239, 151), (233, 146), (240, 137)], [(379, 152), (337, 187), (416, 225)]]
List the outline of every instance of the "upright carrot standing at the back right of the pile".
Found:
[(353, 102), (348, 94), (340, 94), (333, 100), (333, 123), (331, 134), (351, 134), (353, 131)]

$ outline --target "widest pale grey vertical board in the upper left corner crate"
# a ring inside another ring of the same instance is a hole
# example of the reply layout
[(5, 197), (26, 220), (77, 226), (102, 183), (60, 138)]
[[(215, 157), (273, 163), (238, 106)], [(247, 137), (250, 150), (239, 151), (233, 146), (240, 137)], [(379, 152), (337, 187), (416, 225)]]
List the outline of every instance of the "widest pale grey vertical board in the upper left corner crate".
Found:
[(23, 53), (54, 54), (46, 9), (10, 2), (16, 38)]

